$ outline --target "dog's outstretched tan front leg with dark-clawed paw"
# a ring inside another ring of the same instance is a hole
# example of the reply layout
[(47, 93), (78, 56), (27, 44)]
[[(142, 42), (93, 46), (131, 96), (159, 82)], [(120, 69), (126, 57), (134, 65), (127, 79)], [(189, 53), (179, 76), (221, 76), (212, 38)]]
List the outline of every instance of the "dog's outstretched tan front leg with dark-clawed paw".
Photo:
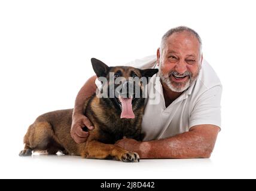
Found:
[(97, 140), (87, 141), (81, 156), (96, 159), (105, 159), (111, 156), (123, 162), (139, 162), (139, 155), (137, 153), (129, 152), (114, 144), (100, 143)]

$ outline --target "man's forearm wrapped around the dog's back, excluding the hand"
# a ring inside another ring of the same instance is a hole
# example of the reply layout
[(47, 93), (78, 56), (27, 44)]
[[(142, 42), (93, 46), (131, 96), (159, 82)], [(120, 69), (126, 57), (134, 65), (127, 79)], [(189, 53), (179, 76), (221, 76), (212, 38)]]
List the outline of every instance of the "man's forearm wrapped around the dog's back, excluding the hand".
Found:
[(77, 98), (75, 99), (75, 107), (73, 111), (73, 116), (77, 114), (83, 114), (84, 103), (87, 98), (92, 96), (96, 91), (96, 76), (92, 76), (86, 81), (86, 84), (83, 85), (81, 90), (77, 94)]

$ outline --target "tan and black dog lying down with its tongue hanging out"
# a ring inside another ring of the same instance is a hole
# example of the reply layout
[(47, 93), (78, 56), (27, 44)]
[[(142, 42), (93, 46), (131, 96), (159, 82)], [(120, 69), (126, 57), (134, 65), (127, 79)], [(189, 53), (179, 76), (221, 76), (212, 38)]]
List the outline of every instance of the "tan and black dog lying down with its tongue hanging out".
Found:
[(96, 58), (92, 58), (91, 61), (97, 78), (104, 77), (106, 79), (100, 93), (108, 91), (108, 96), (99, 97), (95, 93), (84, 104), (84, 115), (95, 127), (93, 130), (89, 130), (87, 141), (77, 144), (71, 137), (73, 109), (56, 110), (38, 116), (35, 122), (29, 126), (23, 140), (25, 148), (20, 152), (20, 156), (31, 156), (32, 151), (46, 150), (48, 155), (60, 151), (83, 158), (111, 158), (123, 162), (139, 162), (138, 153), (124, 150), (114, 143), (123, 137), (141, 140), (141, 122), (145, 100), (142, 97), (142, 90), (144, 86), (141, 81), (132, 83), (133, 90), (139, 88), (139, 97), (135, 97), (129, 91), (125, 93), (122, 88), (117, 95), (110, 97), (111, 88), (109, 87), (112, 85), (114, 91), (120, 87), (111, 82), (110, 73), (114, 73), (114, 79), (123, 77), (121, 87), (129, 89), (131, 88), (129, 78), (146, 77), (148, 79), (157, 73), (158, 69), (141, 70), (128, 66), (108, 67)]

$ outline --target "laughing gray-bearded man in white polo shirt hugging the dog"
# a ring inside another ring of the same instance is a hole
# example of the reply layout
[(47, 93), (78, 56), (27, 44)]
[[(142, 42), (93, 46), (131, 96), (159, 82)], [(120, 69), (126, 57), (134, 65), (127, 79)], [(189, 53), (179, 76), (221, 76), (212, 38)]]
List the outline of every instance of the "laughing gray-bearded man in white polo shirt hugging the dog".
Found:
[[(139, 66), (139, 64), (144, 66)], [(142, 142), (124, 138), (118, 146), (137, 152), (140, 158), (209, 158), (220, 131), (221, 83), (203, 60), (200, 36), (188, 27), (167, 31), (156, 58), (135, 61), (134, 67), (158, 67), (148, 88), (156, 88), (160, 77), (160, 103), (147, 101), (142, 120)], [(96, 91), (96, 76), (81, 88), (75, 101), (71, 135), (77, 143), (86, 141), (83, 104)]]

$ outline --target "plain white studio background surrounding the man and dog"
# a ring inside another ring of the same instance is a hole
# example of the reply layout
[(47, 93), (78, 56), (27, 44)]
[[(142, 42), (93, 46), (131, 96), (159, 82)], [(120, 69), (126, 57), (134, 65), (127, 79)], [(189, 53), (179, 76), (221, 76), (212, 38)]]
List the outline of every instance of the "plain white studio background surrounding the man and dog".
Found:
[[(256, 178), (254, 1), (0, 1), (0, 178)], [(185, 25), (223, 83), (222, 130), (211, 159), (136, 164), (76, 156), (20, 158), (36, 116), (67, 109), (109, 65), (155, 54)]]

